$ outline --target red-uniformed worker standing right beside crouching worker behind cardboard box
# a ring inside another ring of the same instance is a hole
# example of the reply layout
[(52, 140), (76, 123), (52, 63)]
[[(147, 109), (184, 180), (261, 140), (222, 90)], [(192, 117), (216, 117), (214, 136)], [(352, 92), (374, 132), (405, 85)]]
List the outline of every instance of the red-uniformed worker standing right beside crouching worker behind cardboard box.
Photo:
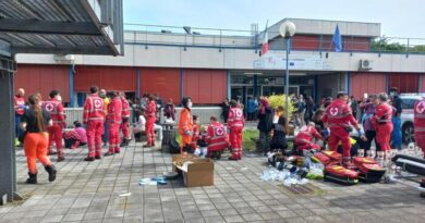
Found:
[(235, 100), (230, 101), (230, 111), (228, 126), (230, 129), (230, 144), (232, 147), (232, 156), (229, 160), (242, 159), (242, 132), (245, 125), (243, 111)]

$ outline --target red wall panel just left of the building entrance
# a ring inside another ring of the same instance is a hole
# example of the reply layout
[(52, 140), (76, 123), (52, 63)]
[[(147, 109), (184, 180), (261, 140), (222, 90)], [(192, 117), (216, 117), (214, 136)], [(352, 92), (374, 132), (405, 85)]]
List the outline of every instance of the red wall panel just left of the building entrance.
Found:
[(226, 99), (227, 73), (219, 70), (184, 70), (184, 95), (194, 103), (221, 103)]

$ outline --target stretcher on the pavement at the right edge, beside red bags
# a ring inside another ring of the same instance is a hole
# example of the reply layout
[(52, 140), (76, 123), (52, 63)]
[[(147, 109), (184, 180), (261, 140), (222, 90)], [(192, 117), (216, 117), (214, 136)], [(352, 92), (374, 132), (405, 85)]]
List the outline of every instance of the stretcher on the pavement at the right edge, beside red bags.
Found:
[[(393, 177), (418, 183), (420, 186), (417, 189), (421, 191), (421, 196), (425, 196), (425, 159), (410, 157), (406, 154), (397, 154), (391, 159), (391, 162), (390, 166), (392, 164), (397, 166)], [(385, 182), (391, 182), (390, 177), (390, 175), (387, 175)]]

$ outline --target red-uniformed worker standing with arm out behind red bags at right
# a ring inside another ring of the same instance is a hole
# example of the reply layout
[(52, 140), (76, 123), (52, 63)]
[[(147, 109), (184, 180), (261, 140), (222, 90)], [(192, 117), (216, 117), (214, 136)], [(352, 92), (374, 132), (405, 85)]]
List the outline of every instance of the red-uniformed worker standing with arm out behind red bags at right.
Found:
[(356, 128), (359, 137), (362, 137), (364, 132), (355, 121), (348, 101), (349, 97), (347, 92), (338, 92), (337, 99), (326, 108), (323, 122), (325, 127), (330, 128), (330, 137), (328, 140), (330, 150), (337, 151), (338, 144), (341, 141), (343, 164), (351, 166), (351, 126)]

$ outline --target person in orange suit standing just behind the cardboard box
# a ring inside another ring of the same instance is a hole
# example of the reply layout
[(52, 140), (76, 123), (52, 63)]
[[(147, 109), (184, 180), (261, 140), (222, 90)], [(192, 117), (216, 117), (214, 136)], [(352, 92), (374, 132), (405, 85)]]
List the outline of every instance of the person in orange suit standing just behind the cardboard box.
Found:
[(192, 152), (192, 136), (193, 136), (193, 117), (192, 117), (192, 99), (185, 97), (182, 100), (184, 107), (180, 112), (179, 134), (182, 136), (181, 153)]

